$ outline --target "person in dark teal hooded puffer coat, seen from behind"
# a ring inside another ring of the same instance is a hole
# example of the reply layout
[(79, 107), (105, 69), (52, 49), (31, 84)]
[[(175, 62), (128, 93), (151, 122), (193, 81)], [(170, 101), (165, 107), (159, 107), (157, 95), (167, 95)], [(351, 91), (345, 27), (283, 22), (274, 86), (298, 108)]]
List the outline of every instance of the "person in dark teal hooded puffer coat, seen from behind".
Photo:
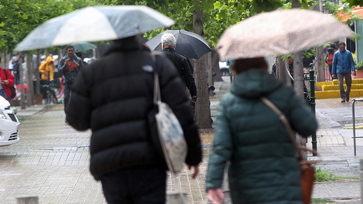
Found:
[(300, 166), (289, 134), (278, 115), (260, 98), (284, 112), (291, 127), (303, 137), (317, 123), (303, 98), (291, 86), (267, 73), (263, 57), (237, 59), (230, 92), (220, 100), (209, 158), (206, 190), (212, 203), (224, 199), (224, 167), (234, 204), (302, 204)]

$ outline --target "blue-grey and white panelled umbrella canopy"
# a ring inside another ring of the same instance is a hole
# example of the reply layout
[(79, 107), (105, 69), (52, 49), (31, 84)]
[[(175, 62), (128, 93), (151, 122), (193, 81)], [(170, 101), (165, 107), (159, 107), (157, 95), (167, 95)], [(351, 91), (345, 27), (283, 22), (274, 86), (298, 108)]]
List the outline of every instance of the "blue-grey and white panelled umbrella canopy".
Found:
[(146, 6), (94, 6), (67, 13), (35, 28), (15, 51), (130, 37), (174, 21)]

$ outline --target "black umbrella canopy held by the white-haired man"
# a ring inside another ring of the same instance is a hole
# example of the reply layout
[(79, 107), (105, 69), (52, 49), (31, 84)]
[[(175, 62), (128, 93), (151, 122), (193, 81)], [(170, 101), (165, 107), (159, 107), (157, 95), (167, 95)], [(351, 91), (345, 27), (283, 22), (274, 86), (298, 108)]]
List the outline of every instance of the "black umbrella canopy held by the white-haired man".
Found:
[(208, 46), (208, 42), (202, 36), (185, 30), (167, 30), (147, 41), (146, 44), (150, 50), (162, 50), (162, 36), (165, 33), (171, 33), (176, 39), (175, 52), (186, 58), (199, 59), (201, 56), (212, 49)]

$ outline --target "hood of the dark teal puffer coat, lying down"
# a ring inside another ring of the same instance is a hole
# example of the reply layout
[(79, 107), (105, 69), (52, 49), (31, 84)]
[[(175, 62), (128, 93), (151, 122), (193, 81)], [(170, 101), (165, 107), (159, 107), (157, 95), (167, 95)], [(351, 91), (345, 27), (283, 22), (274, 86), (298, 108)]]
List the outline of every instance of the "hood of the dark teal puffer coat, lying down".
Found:
[(237, 75), (231, 93), (245, 98), (260, 98), (283, 86), (283, 83), (265, 70), (252, 68)]

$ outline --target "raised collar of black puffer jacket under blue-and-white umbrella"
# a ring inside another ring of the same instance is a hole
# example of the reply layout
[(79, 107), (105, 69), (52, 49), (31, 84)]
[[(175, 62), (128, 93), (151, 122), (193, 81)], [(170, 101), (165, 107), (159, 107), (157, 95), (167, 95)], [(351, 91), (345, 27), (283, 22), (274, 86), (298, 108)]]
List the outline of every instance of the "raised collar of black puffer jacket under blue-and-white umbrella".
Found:
[(112, 42), (111, 47), (106, 51), (104, 56), (113, 52), (126, 52), (142, 50), (142, 44), (134, 40), (133, 37), (123, 38)]

